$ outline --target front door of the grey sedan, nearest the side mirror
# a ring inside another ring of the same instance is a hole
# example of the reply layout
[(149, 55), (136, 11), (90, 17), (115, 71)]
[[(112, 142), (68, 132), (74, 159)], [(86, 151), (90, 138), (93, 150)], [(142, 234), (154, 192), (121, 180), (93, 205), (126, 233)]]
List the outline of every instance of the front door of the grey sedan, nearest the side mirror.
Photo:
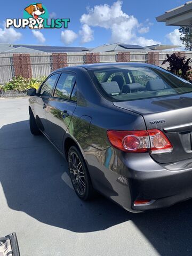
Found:
[(38, 97), (34, 104), (34, 114), (37, 126), (40, 130), (47, 134), (47, 122), (46, 122), (46, 106), (51, 97), (54, 89), (55, 82), (58, 78), (58, 73), (49, 76), (42, 84), (38, 92)]

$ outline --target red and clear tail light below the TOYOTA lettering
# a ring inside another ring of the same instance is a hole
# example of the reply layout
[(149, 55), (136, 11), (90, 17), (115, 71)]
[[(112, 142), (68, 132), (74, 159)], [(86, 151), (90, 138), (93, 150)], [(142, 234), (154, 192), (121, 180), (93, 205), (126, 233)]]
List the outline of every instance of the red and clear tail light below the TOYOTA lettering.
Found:
[(173, 150), (171, 142), (160, 130), (107, 131), (111, 145), (125, 152), (162, 154)]

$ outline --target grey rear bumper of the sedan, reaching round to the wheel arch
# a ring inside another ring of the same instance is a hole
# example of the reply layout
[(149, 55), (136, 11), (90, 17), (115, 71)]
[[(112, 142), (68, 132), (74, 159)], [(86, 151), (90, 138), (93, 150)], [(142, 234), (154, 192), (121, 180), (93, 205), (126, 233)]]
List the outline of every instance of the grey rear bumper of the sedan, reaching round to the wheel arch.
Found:
[[(192, 198), (192, 159), (166, 165), (155, 162), (148, 153), (110, 150), (107, 165), (106, 150), (97, 159), (100, 163), (91, 163), (91, 179), (97, 190), (126, 210), (159, 209)], [(150, 202), (135, 205), (136, 200)]]

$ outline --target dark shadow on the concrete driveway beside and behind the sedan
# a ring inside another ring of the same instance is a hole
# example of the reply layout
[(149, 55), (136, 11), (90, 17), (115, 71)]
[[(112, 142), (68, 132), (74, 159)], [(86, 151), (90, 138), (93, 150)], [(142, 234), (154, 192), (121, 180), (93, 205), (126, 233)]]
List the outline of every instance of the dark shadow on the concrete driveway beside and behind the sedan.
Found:
[(102, 196), (82, 202), (71, 187), (65, 159), (44, 136), (30, 134), (28, 121), (4, 125), (0, 141), (0, 181), (11, 209), (77, 233), (131, 220), (159, 254), (191, 254), (192, 201), (140, 214)]

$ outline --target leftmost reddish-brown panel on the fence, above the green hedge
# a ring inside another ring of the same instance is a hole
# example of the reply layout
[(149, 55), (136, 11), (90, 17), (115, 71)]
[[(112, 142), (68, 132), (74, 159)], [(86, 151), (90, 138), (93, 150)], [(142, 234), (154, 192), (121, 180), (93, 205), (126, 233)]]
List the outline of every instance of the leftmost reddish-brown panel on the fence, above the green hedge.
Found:
[(15, 76), (23, 76), (25, 78), (32, 77), (30, 54), (13, 53), (13, 71)]

